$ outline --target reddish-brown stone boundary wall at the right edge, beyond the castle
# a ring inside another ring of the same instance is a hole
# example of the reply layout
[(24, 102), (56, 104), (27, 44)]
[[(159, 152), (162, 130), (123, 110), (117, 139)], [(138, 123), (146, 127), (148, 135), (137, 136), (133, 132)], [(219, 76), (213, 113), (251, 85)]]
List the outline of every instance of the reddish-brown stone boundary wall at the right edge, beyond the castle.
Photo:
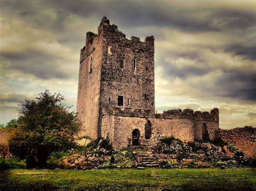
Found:
[(256, 159), (256, 128), (245, 126), (230, 130), (219, 129), (218, 136), (227, 143), (234, 143), (247, 157)]

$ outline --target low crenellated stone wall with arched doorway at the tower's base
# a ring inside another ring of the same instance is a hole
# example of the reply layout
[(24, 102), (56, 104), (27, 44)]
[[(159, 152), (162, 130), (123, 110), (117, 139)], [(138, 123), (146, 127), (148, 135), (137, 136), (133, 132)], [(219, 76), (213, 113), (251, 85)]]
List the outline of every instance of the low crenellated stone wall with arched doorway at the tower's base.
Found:
[[(217, 109), (211, 111), (211, 114), (197, 114), (193, 110), (169, 110), (154, 117), (144, 110), (131, 111), (120, 108), (104, 108), (104, 117), (102, 119), (102, 136), (109, 138), (114, 149), (132, 145), (132, 131), (138, 129), (140, 132), (140, 145), (143, 148), (151, 149), (160, 139), (165, 137), (179, 138), (185, 142), (193, 141), (194, 138), (200, 138), (195, 123), (206, 123), (210, 138), (215, 138), (215, 131), (218, 128), (215, 114)], [(198, 122), (199, 116), (201, 121)], [(145, 124), (151, 123), (151, 137), (145, 139)], [(198, 137), (196, 137), (198, 136)]]

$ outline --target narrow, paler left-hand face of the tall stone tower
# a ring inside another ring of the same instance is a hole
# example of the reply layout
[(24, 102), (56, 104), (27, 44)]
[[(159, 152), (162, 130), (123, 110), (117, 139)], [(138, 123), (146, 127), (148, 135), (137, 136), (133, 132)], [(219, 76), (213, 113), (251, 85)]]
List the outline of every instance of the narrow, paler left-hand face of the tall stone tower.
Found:
[(87, 32), (86, 45), (80, 53), (77, 112), (83, 127), (79, 136), (87, 135), (92, 139), (100, 136), (98, 120), (102, 44), (102, 33), (97, 35)]

